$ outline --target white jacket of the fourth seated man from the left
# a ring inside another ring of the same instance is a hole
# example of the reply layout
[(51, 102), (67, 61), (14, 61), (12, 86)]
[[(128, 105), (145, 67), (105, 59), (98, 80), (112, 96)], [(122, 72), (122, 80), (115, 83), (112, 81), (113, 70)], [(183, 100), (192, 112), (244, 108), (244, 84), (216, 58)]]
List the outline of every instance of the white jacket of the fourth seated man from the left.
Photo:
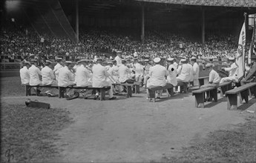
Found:
[(59, 79), (58, 86), (59, 87), (68, 87), (69, 85), (75, 84), (75, 75), (71, 73), (67, 66), (59, 69)]

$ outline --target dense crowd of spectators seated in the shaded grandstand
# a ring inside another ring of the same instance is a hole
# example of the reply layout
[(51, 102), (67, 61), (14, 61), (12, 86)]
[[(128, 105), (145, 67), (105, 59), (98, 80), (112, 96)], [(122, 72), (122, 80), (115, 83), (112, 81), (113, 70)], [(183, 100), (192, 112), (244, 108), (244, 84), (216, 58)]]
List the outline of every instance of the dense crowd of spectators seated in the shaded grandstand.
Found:
[[(18, 29), (18, 30), (17, 30)], [(158, 57), (192, 57), (199, 59), (234, 57), (237, 51), (237, 38), (229, 35), (209, 35), (206, 44), (191, 41), (186, 36), (174, 33), (146, 30), (145, 42), (134, 40), (132, 36), (116, 33), (114, 30), (82, 30), (79, 33), (79, 43), (70, 39), (39, 35), (33, 28), (14, 26), (1, 27), (1, 59), (14, 61), (25, 59), (31, 54), (41, 55), (45, 59), (54, 59), (56, 56), (66, 56), (66, 59), (75, 60), (94, 59), (95, 56), (105, 58), (114, 56), (117, 50), (122, 51), (122, 58), (142, 59)]]

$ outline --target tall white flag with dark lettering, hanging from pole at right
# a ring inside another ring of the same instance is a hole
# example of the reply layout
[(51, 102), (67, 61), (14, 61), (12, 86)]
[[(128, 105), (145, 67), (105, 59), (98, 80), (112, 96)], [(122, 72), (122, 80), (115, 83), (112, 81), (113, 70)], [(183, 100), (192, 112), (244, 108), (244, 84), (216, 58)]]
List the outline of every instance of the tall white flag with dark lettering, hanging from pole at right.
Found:
[(237, 47), (237, 56), (236, 56), (236, 64), (237, 64), (237, 78), (238, 81), (243, 78), (244, 76), (244, 56), (245, 56), (245, 50), (246, 50), (246, 25), (243, 23), (243, 27), (240, 31), (239, 41), (238, 41), (238, 47)]

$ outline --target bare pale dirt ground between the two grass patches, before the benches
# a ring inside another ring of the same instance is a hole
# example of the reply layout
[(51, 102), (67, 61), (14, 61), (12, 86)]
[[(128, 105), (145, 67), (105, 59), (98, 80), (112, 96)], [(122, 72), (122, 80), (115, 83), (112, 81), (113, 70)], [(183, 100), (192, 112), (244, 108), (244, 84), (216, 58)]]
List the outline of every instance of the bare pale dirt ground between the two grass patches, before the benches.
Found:
[[(145, 93), (113, 101), (36, 96), (1, 97), (1, 102), (24, 104), (25, 99), (48, 102), (52, 108), (68, 108), (74, 123), (59, 132), (56, 142), (62, 157), (53, 162), (160, 162), (163, 156), (180, 154), (182, 147), (219, 129), (245, 122), (246, 110), (256, 110), (256, 99), (227, 110), (226, 98), (194, 107), (191, 93), (177, 94), (153, 103)], [(238, 101), (239, 104), (239, 101)]]

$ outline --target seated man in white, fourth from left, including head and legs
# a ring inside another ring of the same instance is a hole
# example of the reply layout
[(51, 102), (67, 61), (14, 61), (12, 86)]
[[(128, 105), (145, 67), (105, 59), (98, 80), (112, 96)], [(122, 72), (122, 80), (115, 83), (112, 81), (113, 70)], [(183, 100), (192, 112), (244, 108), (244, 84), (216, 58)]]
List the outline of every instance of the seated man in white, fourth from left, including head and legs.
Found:
[[(71, 69), (73, 67), (72, 61), (65, 61), (64, 67), (59, 69), (58, 86), (68, 87), (75, 85), (75, 75), (72, 73)], [(66, 96), (71, 98), (73, 96), (73, 89), (68, 89)]]

